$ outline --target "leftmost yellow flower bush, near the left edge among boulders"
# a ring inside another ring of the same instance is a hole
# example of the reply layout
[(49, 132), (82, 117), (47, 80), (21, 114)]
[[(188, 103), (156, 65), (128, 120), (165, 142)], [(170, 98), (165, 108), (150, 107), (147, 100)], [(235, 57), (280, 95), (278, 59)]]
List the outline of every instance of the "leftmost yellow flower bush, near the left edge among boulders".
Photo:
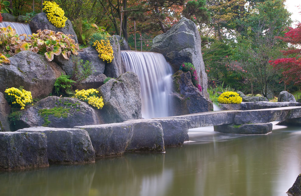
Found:
[(20, 90), (18, 88), (12, 87), (5, 91), (5, 98), (10, 105), (17, 108), (24, 109), (25, 105), (33, 102), (33, 97), (30, 91)]

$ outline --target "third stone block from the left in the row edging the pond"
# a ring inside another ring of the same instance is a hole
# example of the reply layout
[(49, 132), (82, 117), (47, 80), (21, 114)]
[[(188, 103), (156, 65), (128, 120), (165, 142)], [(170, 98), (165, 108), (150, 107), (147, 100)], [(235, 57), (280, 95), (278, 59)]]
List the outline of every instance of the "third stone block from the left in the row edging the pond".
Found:
[(133, 136), (132, 123), (77, 126), (88, 132), (96, 157), (122, 155)]

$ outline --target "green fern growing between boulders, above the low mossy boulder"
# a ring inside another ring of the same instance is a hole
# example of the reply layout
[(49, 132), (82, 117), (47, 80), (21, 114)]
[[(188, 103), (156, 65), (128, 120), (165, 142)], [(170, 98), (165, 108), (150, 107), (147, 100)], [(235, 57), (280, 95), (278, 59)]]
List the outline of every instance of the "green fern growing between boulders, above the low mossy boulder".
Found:
[(72, 85), (76, 83), (74, 80), (70, 80), (70, 77), (61, 73), (61, 76), (57, 78), (54, 83), (54, 91), (56, 94), (72, 95)]

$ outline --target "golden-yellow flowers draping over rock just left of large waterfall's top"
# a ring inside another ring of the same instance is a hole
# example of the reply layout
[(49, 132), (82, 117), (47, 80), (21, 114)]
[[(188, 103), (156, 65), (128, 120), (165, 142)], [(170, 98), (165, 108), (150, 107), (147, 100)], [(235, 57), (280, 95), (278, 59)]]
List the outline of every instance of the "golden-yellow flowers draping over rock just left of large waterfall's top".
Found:
[(102, 59), (103, 61), (112, 62), (112, 60), (114, 59), (113, 48), (109, 40), (100, 40), (100, 42), (96, 40), (93, 43), (93, 46), (96, 47), (100, 59)]

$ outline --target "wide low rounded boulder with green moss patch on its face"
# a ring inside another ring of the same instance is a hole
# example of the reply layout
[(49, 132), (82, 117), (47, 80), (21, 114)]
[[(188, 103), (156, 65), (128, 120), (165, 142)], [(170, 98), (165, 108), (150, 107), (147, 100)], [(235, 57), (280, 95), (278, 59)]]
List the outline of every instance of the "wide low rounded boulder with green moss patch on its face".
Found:
[(72, 128), (102, 124), (97, 109), (76, 98), (50, 96), (22, 112), (15, 130), (27, 127)]

